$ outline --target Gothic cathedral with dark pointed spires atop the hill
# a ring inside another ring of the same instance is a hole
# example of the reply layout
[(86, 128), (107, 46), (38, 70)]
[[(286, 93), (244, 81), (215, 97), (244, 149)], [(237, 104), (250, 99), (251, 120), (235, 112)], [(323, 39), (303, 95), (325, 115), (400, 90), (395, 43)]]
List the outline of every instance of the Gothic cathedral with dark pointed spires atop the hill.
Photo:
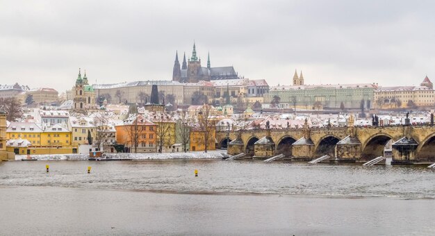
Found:
[(178, 52), (175, 53), (172, 81), (181, 83), (197, 83), (199, 81), (213, 81), (222, 79), (235, 79), (238, 74), (234, 67), (211, 67), (210, 53), (207, 56), (207, 67), (201, 66), (201, 58), (197, 56), (195, 43), (193, 44), (192, 56), (186, 62), (186, 53), (183, 55), (183, 64), (180, 67)]

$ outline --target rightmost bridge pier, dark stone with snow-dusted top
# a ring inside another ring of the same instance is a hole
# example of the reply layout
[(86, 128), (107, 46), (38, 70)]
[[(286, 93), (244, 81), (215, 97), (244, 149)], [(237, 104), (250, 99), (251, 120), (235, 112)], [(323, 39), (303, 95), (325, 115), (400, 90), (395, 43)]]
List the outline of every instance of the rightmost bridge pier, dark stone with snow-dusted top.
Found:
[(402, 137), (393, 143), (391, 165), (412, 165), (416, 160), (418, 143), (412, 137)]

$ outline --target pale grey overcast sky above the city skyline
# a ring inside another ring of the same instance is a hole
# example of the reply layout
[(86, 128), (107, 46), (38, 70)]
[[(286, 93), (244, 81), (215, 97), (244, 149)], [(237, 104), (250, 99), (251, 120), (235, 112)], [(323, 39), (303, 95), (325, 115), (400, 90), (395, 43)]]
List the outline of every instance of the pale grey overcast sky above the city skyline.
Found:
[(3, 1), (0, 84), (171, 80), (175, 51), (245, 78), (418, 85), (435, 79), (434, 1)]

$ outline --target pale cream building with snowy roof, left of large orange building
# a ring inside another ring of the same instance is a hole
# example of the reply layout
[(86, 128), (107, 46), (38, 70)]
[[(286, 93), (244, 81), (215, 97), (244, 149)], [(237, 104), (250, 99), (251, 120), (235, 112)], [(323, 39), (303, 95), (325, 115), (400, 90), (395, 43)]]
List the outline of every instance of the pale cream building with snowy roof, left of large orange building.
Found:
[(97, 128), (95, 128), (92, 121), (88, 121), (85, 118), (77, 119), (76, 117), (70, 117), (69, 123), (72, 132), (73, 146), (88, 145), (88, 133), (91, 134), (92, 140), (95, 140)]

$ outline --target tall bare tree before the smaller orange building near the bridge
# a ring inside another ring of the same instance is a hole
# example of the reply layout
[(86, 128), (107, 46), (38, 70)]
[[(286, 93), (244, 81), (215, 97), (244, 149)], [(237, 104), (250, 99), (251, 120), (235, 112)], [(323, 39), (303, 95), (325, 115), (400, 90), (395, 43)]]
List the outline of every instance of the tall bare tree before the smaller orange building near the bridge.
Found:
[(198, 124), (199, 130), (204, 137), (204, 151), (208, 150), (208, 143), (211, 142), (215, 137), (213, 130), (215, 130), (215, 121), (211, 117), (211, 106), (208, 104), (202, 106), (198, 113)]

